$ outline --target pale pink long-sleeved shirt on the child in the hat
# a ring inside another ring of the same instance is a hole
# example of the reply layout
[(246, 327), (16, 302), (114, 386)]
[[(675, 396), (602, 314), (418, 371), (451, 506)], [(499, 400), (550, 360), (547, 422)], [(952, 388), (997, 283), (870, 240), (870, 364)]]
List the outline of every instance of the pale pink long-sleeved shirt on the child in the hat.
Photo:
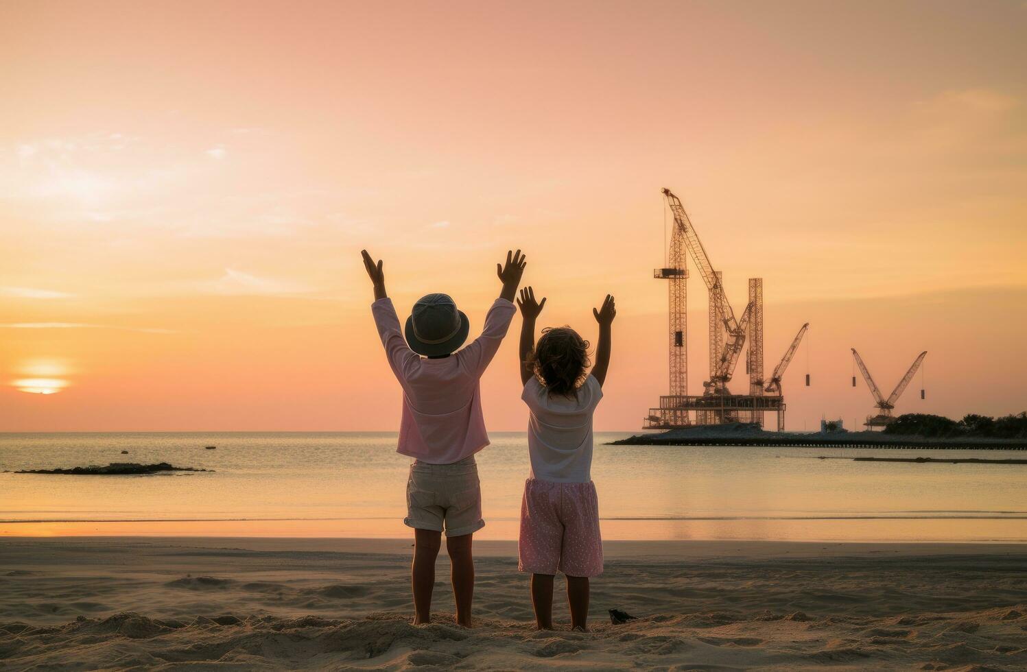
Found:
[(502, 343), (517, 309), (497, 299), (482, 335), (442, 359), (426, 359), (407, 346), (389, 299), (371, 305), (389, 366), (403, 388), (403, 417), (396, 452), (448, 465), (489, 444), (479, 382)]

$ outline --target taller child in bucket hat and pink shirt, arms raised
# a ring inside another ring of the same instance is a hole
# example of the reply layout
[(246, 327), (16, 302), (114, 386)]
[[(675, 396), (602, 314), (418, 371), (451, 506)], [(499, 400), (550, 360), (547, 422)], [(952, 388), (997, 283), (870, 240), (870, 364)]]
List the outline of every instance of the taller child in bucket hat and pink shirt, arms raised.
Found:
[(445, 530), (453, 566), (456, 620), (469, 627), (474, 593), (471, 537), (485, 526), (474, 453), (489, 444), (479, 381), (517, 312), (514, 298), (524, 274), (525, 256), (520, 249), (507, 251), (505, 265), (496, 264), (502, 282), (499, 298), (485, 317), (482, 334), (458, 351), (470, 324), (453, 299), (443, 293), (421, 297), (401, 329), (385, 292), (382, 262), (372, 260), (367, 250), (362, 254), (374, 284), (371, 312), (378, 335), (403, 388), (396, 451), (414, 458), (404, 519), (414, 528), (414, 623), (430, 621), (435, 558)]

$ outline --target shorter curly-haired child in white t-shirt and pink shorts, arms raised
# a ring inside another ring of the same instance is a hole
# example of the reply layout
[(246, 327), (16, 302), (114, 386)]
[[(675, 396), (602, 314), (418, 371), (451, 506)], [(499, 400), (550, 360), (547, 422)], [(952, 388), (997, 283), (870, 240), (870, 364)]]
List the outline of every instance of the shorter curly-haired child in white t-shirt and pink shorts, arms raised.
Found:
[(521, 398), (528, 404), (531, 473), (521, 502), (521, 571), (531, 572), (531, 601), (541, 630), (553, 629), (553, 581), (567, 578), (571, 627), (587, 630), (588, 579), (603, 572), (599, 499), (592, 482), (592, 417), (603, 398), (610, 365), (610, 332), (617, 311), (607, 294), (601, 309), (596, 365), (588, 373), (588, 342), (568, 327), (546, 328), (535, 343), (535, 320), (545, 299), (521, 290)]

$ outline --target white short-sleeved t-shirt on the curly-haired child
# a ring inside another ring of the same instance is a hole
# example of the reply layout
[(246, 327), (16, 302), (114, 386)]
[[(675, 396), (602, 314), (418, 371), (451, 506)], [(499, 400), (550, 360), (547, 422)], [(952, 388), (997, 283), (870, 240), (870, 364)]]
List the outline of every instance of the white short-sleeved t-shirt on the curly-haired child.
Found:
[(537, 379), (521, 395), (531, 411), (528, 418), (528, 453), (531, 477), (558, 483), (592, 480), (592, 414), (603, 398), (603, 388), (589, 375), (576, 398), (550, 395)]

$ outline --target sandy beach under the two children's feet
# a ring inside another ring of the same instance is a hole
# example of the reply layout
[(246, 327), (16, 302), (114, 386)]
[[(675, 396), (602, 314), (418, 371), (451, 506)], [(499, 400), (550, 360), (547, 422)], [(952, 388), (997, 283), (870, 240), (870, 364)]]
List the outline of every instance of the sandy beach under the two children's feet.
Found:
[[(593, 632), (533, 627), (516, 545), (477, 627), (410, 624), (407, 540), (0, 541), (0, 667), (1027, 669), (1027, 546), (612, 542)], [(639, 617), (612, 625), (607, 609)]]

